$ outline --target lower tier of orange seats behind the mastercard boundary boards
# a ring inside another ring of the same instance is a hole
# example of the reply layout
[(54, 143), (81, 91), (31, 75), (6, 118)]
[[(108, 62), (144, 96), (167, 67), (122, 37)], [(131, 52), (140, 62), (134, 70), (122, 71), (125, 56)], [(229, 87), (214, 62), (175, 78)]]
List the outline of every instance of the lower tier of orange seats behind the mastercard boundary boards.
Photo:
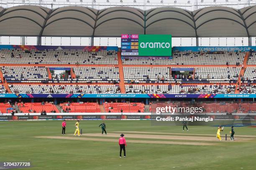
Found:
[(198, 107), (202, 109), (202, 113), (256, 113), (256, 103), (253, 101), (205, 101), (205, 100), (192, 100), (192, 101), (156, 101), (151, 100), (149, 104), (144, 102), (61, 102), (54, 104), (54, 102), (12, 102), (8, 101), (0, 103), (1, 113), (77, 113), (77, 112), (108, 112), (108, 113), (136, 113), (136, 112), (151, 112), (156, 113), (159, 108), (166, 107)]

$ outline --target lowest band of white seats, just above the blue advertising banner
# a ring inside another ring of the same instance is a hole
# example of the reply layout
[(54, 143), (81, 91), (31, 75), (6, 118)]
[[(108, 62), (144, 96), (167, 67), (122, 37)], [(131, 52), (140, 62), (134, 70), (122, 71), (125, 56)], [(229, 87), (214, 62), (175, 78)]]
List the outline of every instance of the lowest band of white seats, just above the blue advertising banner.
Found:
[[(120, 94), (119, 85), (9, 85), (13, 93), (25, 94)], [(5, 87), (1, 87), (5, 93)], [(125, 85), (128, 94), (234, 94), (256, 93), (256, 85)]]

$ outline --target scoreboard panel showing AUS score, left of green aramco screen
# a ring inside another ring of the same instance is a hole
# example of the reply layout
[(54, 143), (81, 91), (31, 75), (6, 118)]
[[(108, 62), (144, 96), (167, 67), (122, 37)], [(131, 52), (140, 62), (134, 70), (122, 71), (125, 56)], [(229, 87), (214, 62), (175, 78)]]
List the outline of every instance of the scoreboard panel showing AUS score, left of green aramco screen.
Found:
[(138, 56), (138, 34), (121, 35), (121, 55)]

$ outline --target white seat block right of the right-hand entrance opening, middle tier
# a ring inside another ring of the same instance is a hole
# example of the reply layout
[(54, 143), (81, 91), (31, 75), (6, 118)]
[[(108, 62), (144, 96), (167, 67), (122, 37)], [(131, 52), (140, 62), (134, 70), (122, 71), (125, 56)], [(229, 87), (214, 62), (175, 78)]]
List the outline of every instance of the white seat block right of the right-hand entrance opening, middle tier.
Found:
[(200, 67), (195, 70), (195, 79), (212, 82), (237, 80), (241, 67)]

